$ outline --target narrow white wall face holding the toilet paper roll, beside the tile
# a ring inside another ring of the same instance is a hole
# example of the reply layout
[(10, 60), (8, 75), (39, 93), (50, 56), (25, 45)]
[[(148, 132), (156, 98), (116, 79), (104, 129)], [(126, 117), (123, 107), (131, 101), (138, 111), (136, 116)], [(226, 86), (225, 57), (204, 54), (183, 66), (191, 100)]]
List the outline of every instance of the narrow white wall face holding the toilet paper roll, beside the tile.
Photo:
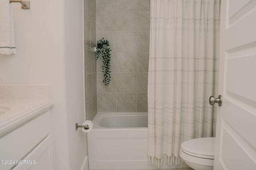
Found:
[(85, 133), (79, 125), (84, 116), (83, 0), (65, 0), (66, 95), (70, 166), (79, 170), (86, 156)]

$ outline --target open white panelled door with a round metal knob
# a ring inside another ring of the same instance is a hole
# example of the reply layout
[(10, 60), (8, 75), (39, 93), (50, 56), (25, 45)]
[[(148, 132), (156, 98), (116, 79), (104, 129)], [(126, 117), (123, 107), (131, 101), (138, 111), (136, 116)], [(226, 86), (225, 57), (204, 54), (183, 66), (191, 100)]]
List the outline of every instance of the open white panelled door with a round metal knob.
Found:
[(219, 94), (214, 170), (256, 170), (256, 0), (222, 0)]

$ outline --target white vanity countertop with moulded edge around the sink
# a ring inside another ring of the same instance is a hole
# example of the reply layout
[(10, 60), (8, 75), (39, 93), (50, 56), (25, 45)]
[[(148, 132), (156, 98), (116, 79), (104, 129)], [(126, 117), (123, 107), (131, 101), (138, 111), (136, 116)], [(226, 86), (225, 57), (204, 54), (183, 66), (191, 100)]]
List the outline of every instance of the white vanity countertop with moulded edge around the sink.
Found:
[(0, 137), (53, 105), (50, 99), (0, 99), (0, 107), (9, 109), (0, 114)]

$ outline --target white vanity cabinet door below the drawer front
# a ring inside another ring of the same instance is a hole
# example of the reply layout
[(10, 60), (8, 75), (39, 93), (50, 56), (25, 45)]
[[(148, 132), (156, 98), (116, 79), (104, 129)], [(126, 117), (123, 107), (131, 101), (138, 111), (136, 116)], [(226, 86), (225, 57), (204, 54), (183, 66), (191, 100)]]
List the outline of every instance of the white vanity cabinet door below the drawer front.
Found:
[(53, 170), (51, 135), (35, 147), (13, 170)]

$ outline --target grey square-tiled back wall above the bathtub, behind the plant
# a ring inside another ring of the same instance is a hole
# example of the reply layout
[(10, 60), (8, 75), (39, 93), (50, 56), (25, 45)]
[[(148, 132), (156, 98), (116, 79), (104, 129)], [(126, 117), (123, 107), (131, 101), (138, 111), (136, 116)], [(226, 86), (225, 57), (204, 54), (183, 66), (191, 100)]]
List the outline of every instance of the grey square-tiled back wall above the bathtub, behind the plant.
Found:
[(148, 111), (149, 29), (150, 0), (96, 0), (96, 40), (104, 37), (112, 49), (108, 86), (97, 60), (98, 111)]

